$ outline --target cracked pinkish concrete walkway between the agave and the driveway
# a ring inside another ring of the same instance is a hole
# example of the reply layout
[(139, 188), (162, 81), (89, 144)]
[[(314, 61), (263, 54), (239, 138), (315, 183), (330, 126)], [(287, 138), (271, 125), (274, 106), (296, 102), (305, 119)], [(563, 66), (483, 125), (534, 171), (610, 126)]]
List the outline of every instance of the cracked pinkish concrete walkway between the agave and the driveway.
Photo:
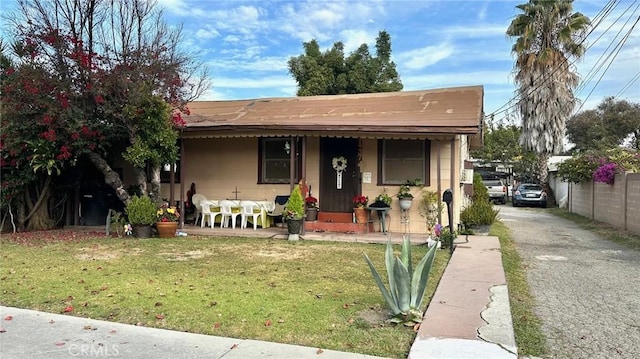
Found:
[(497, 237), (461, 236), (409, 358), (516, 358)]

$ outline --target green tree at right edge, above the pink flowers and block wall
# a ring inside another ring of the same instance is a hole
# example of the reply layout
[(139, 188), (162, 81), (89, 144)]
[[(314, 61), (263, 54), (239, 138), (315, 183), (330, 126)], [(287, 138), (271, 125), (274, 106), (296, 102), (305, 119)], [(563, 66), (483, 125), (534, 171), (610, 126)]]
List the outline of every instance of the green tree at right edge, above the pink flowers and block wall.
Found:
[(576, 114), (567, 121), (567, 137), (575, 150), (606, 150), (629, 139), (640, 150), (640, 104), (607, 97), (595, 110)]

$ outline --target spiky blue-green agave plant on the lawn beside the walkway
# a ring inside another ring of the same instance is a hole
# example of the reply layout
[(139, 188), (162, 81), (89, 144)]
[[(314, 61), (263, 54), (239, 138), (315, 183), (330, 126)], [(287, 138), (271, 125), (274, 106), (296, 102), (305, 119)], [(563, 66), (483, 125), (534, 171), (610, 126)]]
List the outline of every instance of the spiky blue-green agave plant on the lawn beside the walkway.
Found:
[(382, 296), (393, 313), (393, 317), (389, 320), (390, 322), (411, 326), (422, 321), (423, 313), (420, 311), (420, 307), (424, 292), (427, 289), (429, 271), (431, 271), (435, 257), (436, 246), (433, 246), (413, 269), (409, 237), (404, 236), (402, 258), (393, 256), (393, 246), (391, 245), (391, 239), (389, 239), (385, 252), (385, 265), (389, 276), (389, 289), (387, 289), (371, 259), (364, 253), (364, 259), (367, 261), (369, 269), (371, 269), (373, 279), (378, 284)]

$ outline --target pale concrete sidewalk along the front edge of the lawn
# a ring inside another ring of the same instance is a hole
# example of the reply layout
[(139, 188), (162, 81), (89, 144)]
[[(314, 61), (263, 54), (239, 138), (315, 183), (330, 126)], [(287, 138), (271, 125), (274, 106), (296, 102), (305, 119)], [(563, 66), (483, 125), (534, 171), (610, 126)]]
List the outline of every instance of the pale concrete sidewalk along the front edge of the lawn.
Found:
[[(363, 354), (320, 350), (257, 340), (203, 334), (78, 318), (1, 307), (0, 357), (78, 358), (323, 358), (374, 359)], [(11, 320), (6, 320), (6, 316)]]

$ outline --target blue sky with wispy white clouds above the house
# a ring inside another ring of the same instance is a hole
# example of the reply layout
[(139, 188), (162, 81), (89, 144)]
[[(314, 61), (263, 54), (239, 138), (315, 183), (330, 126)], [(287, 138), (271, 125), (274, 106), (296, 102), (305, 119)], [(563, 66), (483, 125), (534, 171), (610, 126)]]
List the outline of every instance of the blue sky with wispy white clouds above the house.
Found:
[[(185, 46), (210, 69), (213, 86), (199, 100), (295, 96), (287, 61), (303, 52), (302, 42), (315, 38), (325, 50), (342, 41), (347, 54), (367, 43), (373, 53), (386, 30), (404, 90), (484, 85), (485, 113), (500, 110), (498, 116), (515, 91), (505, 31), (524, 2), (158, 0), (165, 21), (183, 24)], [(615, 6), (602, 18), (609, 3)], [(640, 103), (640, 24), (615, 55), (639, 7), (637, 0), (574, 2), (575, 11), (602, 20), (576, 63), (585, 80), (576, 91), (581, 110), (605, 96)]]

